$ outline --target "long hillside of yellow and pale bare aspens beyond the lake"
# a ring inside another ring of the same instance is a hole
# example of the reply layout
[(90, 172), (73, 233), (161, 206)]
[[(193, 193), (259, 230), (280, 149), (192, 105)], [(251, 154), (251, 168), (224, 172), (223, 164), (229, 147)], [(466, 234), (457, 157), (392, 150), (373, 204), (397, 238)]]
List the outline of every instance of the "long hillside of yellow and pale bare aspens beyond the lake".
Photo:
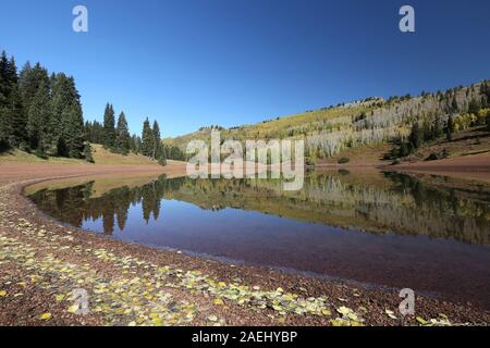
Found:
[(316, 162), (366, 146), (385, 149), (390, 141), (406, 138), (415, 122), (429, 127), (439, 123), (446, 127), (451, 116), (456, 133), (483, 124), (489, 111), (485, 108), (489, 108), (489, 102), (488, 82), (483, 82), (445, 91), (422, 92), (418, 97), (367, 98), (254, 125), (203, 127), (192, 134), (164, 139), (163, 142), (185, 151), (193, 139), (209, 141), (212, 128), (221, 132), (222, 139), (302, 138), (305, 139), (306, 157)]

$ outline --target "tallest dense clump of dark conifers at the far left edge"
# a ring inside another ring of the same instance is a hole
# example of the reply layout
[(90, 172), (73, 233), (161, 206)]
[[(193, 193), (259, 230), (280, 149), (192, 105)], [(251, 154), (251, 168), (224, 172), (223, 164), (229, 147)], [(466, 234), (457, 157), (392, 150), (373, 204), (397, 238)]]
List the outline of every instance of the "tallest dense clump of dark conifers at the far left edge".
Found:
[(0, 150), (20, 148), (47, 158), (93, 161), (75, 79), (48, 73), (27, 62), (17, 72), (15, 59), (0, 58)]

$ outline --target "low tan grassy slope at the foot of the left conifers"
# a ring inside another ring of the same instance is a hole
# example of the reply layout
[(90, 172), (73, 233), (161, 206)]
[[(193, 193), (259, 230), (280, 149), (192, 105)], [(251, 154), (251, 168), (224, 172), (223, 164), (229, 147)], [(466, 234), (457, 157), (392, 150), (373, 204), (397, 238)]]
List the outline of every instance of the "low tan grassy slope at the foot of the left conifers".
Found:
[[(140, 154), (130, 153), (127, 156), (112, 153), (106, 150), (101, 145), (94, 144), (93, 157), (95, 164), (103, 165), (158, 165), (157, 161), (154, 161), (147, 157)], [(85, 160), (56, 158), (50, 157), (47, 160), (36, 157), (33, 153), (27, 153), (17, 149), (10, 150), (0, 154), (0, 163), (53, 163), (53, 164), (83, 164), (94, 165)]]

